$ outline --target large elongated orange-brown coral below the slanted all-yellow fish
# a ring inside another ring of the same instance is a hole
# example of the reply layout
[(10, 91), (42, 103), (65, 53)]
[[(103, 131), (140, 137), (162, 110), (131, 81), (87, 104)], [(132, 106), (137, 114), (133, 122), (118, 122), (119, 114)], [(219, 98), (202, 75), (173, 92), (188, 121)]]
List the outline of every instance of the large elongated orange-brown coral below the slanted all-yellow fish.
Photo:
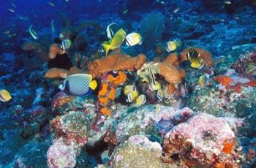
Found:
[(90, 62), (88, 69), (89, 74), (92, 75), (92, 77), (98, 77), (102, 73), (110, 72), (112, 70), (138, 70), (145, 61), (146, 56), (143, 54), (139, 54), (135, 58), (132, 58), (123, 53), (111, 53), (110, 56)]

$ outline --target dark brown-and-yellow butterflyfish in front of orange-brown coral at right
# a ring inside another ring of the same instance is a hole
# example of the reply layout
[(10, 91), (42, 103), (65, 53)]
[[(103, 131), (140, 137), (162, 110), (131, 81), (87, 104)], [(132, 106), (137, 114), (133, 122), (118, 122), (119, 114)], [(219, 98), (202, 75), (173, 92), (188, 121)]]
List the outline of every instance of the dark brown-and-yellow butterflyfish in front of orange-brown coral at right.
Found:
[(200, 69), (203, 68), (205, 61), (203, 61), (202, 58), (200, 58), (200, 54), (197, 53), (197, 51), (193, 48), (190, 48), (187, 52), (187, 59), (190, 62), (190, 66), (192, 68)]

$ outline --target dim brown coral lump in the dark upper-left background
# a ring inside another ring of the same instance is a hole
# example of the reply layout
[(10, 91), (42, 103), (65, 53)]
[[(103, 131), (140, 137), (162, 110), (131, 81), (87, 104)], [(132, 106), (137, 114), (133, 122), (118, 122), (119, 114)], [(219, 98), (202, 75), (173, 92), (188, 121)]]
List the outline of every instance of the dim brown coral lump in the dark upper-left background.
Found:
[(24, 42), (21, 45), (23, 50), (31, 50), (35, 55), (39, 57), (39, 60), (42, 62), (48, 61), (48, 48), (44, 45), (39, 44), (38, 42)]

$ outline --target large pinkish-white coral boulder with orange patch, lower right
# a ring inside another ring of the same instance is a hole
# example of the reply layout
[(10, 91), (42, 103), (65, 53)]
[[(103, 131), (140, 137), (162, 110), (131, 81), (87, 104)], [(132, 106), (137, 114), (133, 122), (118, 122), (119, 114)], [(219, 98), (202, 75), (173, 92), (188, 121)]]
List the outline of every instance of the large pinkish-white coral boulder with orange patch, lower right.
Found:
[[(225, 118), (200, 113), (165, 134), (167, 158), (177, 154), (189, 167), (238, 166), (236, 137)], [(232, 153), (231, 153), (232, 151)]]

